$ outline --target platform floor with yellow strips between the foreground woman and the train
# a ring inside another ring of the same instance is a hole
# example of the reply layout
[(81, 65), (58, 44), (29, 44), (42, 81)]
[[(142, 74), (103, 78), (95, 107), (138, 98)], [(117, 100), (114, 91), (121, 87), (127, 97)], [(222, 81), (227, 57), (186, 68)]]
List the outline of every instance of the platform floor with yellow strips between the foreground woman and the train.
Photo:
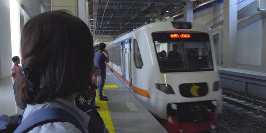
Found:
[(109, 133), (168, 133), (108, 68), (103, 88), (108, 101), (97, 106)]

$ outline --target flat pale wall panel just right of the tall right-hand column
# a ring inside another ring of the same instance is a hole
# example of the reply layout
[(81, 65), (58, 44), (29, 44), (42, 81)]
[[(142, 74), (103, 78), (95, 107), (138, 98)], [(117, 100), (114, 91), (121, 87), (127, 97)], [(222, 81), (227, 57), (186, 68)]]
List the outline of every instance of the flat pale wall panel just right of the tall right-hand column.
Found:
[(237, 64), (261, 65), (262, 20), (238, 30)]

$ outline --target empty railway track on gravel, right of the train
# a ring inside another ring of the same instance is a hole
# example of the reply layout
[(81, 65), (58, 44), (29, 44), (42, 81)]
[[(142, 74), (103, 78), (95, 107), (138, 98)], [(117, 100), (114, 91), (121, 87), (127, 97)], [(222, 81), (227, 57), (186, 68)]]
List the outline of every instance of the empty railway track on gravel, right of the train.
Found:
[(266, 117), (266, 102), (223, 91), (223, 100)]

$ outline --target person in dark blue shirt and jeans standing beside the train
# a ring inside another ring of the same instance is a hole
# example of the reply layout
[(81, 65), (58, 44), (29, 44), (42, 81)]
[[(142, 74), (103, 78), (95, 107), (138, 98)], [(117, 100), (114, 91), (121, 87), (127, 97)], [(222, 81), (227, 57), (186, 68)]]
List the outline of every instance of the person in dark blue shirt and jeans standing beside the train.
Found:
[[(108, 98), (106, 96), (103, 96), (102, 90), (103, 86), (105, 84), (105, 79), (106, 79), (106, 63), (109, 62), (109, 54), (108, 51), (105, 49), (106, 45), (105, 43), (101, 42), (99, 44), (99, 50), (95, 52), (94, 55), (94, 61), (95, 61), (95, 66), (99, 68), (99, 75), (98, 75), (98, 94), (99, 94), (99, 100), (104, 100), (107, 101)], [(106, 54), (104, 54), (104, 53)]]

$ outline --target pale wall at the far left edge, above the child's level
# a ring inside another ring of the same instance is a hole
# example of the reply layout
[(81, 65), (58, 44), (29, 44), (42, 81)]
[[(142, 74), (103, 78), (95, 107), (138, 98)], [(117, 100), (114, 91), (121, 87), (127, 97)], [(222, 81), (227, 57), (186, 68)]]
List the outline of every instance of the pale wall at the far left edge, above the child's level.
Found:
[(1, 79), (11, 75), (10, 68), (12, 66), (9, 0), (0, 0), (0, 18)]

